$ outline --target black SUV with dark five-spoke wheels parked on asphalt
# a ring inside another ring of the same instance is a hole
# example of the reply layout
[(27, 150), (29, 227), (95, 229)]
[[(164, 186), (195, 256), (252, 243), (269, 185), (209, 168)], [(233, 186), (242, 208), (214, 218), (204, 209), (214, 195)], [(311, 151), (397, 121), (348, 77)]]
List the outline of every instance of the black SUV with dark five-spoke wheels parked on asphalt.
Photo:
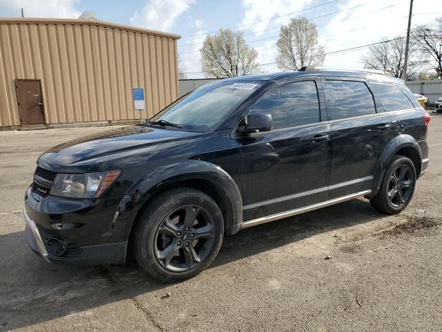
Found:
[(209, 266), (224, 234), (365, 196), (401, 212), (428, 165), (430, 116), (402, 80), (299, 71), (220, 80), (146, 122), (53, 147), (25, 194), (46, 261), (156, 279)]

